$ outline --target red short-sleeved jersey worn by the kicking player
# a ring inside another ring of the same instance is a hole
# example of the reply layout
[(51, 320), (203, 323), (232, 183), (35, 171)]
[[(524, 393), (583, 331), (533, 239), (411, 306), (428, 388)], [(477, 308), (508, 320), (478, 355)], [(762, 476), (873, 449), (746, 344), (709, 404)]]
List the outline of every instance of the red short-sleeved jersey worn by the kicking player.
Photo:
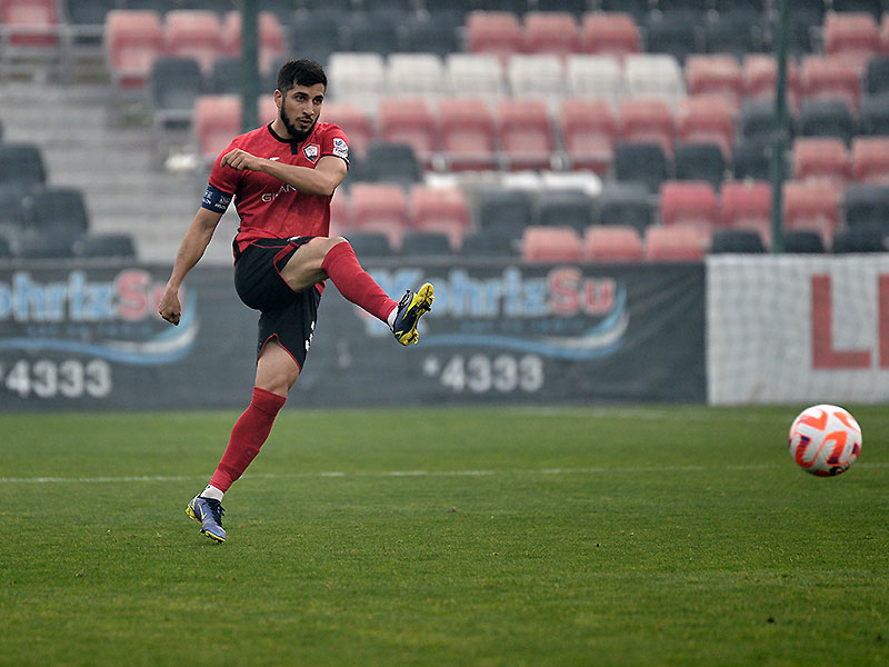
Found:
[[(211, 188), (234, 197), (241, 219), (234, 242), (240, 251), (257, 239), (330, 235), (329, 196), (307, 195), (267, 173), (221, 166), (222, 156), (236, 148), (258, 158), (311, 169), (323, 156), (337, 156), (348, 163), (348, 139), (338, 126), (319, 121), (301, 142), (279, 137), (271, 123), (258, 128), (236, 137), (217, 158), (210, 173)], [(207, 198), (203, 206), (224, 211), (224, 203), (211, 206)]]

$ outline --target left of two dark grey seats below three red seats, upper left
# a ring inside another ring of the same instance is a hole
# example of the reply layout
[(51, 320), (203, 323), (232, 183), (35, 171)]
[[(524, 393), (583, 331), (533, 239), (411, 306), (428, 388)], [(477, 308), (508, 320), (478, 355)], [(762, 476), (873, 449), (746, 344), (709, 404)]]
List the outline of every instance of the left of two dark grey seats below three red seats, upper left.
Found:
[(203, 74), (193, 58), (160, 56), (151, 64), (149, 97), (154, 121), (163, 128), (188, 128)]

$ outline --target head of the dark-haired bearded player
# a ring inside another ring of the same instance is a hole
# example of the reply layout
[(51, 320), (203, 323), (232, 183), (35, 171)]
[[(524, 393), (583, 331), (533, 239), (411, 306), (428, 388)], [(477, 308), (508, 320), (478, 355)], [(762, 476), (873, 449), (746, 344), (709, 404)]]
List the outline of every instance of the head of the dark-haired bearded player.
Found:
[(274, 102), (278, 118), (291, 139), (302, 141), (311, 133), (321, 113), (326, 90), (327, 76), (314, 60), (290, 60), (278, 70)]

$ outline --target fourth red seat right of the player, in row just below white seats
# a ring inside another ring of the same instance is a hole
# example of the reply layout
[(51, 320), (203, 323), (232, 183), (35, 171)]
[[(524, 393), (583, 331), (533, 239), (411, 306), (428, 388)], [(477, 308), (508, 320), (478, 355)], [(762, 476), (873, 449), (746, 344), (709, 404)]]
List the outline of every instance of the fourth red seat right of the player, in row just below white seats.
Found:
[(547, 170), (556, 140), (543, 100), (503, 98), (497, 104), (500, 147), (512, 171)]

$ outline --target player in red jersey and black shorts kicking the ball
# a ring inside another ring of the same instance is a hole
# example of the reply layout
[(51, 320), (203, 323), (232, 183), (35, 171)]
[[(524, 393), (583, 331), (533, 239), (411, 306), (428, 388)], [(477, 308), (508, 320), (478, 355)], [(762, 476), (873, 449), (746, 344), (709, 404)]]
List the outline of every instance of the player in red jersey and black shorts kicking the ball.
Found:
[(241, 220), (233, 242), (234, 287), (260, 312), (256, 386), (210, 484), (186, 509), (202, 534), (220, 542), (226, 541), (222, 496), (259, 454), (299, 377), (324, 280), (387, 322), (401, 345), (417, 342), (417, 322), (432, 305), (428, 282), (397, 303), (361, 268), (349, 242), (329, 236), (330, 199), (346, 177), (349, 145), (339, 127), (319, 121), (326, 89), (327, 76), (313, 60), (281, 67), (278, 117), (236, 137), (217, 159), (158, 307), (163, 319), (179, 323), (179, 288), (233, 199)]

